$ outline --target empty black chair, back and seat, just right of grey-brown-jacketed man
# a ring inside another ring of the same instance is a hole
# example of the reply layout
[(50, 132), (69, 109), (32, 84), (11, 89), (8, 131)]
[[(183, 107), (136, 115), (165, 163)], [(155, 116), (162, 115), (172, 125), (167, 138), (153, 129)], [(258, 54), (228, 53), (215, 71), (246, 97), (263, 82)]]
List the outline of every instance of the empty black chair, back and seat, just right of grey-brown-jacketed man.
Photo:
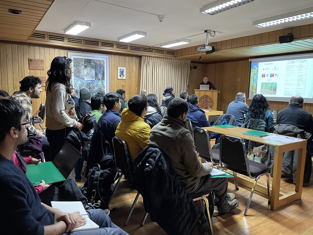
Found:
[(200, 127), (193, 128), (193, 139), (199, 157), (219, 165), (219, 149), (211, 149), (208, 131)]

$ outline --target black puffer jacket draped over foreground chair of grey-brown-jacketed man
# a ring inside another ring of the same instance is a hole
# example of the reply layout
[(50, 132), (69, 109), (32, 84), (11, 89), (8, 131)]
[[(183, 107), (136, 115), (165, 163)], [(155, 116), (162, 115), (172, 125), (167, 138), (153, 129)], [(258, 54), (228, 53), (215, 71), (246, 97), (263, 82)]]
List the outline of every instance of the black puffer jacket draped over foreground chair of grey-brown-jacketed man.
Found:
[(151, 221), (169, 235), (192, 234), (199, 221), (197, 207), (177, 179), (168, 156), (147, 146), (134, 164), (133, 187), (141, 194)]

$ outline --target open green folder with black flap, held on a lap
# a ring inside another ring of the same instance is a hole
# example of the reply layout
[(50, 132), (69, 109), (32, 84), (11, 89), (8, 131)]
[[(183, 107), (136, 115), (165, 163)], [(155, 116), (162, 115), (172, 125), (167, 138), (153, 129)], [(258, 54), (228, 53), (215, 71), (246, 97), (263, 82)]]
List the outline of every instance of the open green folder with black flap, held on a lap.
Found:
[(81, 153), (65, 142), (52, 162), (28, 165), (26, 175), (34, 186), (39, 185), (41, 180), (46, 184), (64, 181), (80, 158)]

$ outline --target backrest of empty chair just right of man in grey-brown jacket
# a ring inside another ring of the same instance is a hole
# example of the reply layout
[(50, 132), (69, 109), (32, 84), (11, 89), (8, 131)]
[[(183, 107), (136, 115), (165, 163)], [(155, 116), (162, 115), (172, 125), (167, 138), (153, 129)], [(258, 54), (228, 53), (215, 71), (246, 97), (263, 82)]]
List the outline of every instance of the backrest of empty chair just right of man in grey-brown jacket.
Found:
[(204, 159), (213, 163), (212, 149), (208, 131), (200, 127), (193, 128), (193, 139), (195, 142), (196, 151), (200, 157), (204, 157)]

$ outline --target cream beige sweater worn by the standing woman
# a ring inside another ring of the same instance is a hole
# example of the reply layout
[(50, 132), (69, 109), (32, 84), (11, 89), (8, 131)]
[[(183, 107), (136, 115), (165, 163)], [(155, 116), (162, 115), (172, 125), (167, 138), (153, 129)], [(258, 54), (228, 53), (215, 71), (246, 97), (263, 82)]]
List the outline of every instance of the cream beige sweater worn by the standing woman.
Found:
[(49, 130), (60, 130), (65, 127), (76, 127), (77, 116), (74, 102), (69, 100), (65, 86), (54, 83), (46, 95), (46, 127)]

